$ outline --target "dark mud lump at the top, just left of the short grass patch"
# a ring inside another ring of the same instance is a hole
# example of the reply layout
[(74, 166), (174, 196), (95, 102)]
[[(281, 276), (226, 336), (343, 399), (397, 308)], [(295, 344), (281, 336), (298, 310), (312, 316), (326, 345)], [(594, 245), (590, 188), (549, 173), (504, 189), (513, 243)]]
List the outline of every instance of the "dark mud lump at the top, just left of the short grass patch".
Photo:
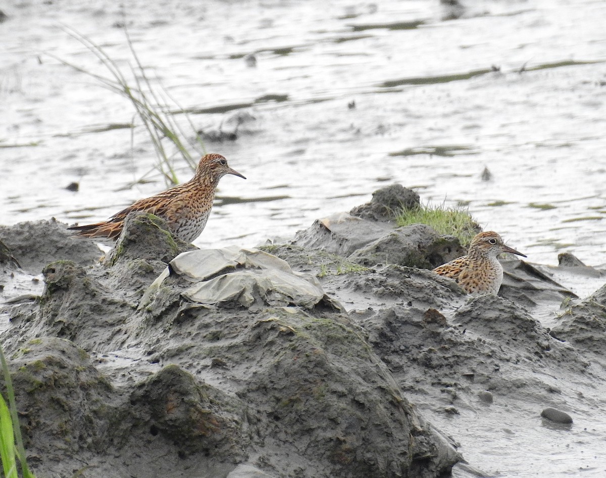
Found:
[(415, 191), (402, 184), (391, 184), (373, 192), (370, 203), (354, 207), (349, 214), (362, 219), (389, 222), (394, 220), (398, 210), (415, 209), (420, 205), (419, 195)]

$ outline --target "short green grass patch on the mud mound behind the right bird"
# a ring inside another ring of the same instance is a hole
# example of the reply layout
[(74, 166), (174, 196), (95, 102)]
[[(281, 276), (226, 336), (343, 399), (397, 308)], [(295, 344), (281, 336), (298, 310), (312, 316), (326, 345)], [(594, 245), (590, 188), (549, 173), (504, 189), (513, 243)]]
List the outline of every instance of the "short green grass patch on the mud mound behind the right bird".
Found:
[(481, 231), (477, 221), (469, 214), (467, 207), (419, 206), (396, 212), (398, 226), (427, 224), (440, 234), (454, 235), (462, 246), (468, 246), (474, 235)]

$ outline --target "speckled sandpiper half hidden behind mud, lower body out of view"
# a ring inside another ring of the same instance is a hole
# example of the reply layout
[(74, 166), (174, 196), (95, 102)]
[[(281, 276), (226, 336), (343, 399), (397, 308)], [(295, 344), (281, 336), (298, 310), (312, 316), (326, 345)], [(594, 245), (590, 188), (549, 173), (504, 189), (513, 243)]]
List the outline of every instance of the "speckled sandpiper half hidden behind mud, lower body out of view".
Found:
[(505, 246), (496, 232), (481, 232), (471, 241), (467, 255), (443, 264), (433, 272), (456, 280), (467, 294), (496, 295), (503, 281), (503, 266), (496, 257), (502, 252), (527, 257)]

